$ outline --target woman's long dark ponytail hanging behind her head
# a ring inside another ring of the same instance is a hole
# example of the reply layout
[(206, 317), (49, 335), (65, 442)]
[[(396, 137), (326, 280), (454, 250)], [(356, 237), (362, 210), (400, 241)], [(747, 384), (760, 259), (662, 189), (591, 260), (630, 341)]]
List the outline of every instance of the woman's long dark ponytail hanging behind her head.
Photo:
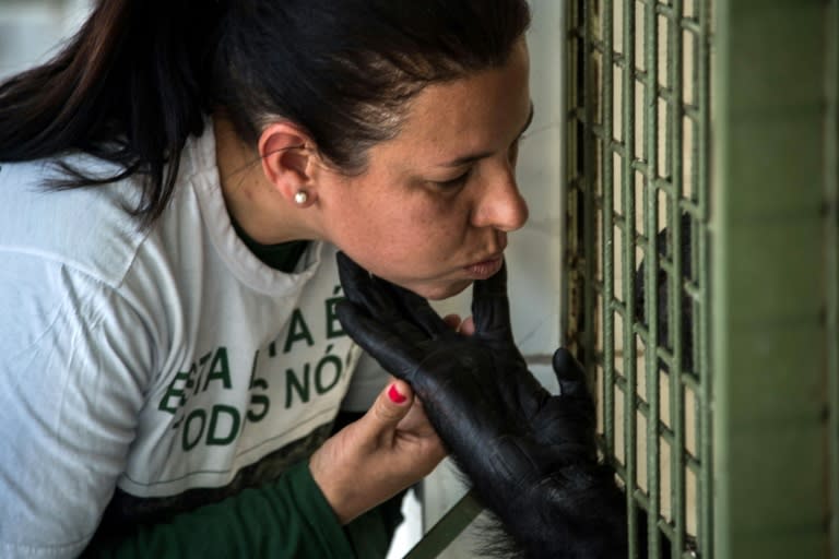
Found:
[(0, 85), (0, 162), (81, 151), (117, 164), (111, 177), (62, 165), (58, 189), (141, 174), (134, 214), (150, 225), (175, 187), (187, 138), (203, 129), (218, 2), (99, 0), (50, 61)]

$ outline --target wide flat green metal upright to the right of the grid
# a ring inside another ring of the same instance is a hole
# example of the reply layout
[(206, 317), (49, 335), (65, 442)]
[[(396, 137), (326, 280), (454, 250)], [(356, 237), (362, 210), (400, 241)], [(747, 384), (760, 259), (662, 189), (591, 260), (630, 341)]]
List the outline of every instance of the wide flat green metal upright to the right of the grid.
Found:
[(827, 5), (720, 0), (714, 9), (718, 559), (829, 552), (825, 480), (836, 472), (826, 471), (824, 414)]

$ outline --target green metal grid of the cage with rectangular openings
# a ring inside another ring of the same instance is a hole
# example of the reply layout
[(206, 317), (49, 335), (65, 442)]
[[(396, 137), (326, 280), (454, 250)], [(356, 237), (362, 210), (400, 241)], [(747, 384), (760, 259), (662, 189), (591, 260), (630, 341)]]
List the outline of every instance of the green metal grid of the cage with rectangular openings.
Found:
[(568, 2), (567, 343), (649, 557), (710, 557), (709, 0)]

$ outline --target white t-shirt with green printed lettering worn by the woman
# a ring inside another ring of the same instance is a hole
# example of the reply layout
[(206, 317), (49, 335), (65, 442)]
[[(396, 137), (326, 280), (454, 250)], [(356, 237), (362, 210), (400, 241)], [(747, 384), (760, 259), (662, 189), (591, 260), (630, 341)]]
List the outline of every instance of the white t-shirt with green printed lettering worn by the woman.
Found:
[[(286, 274), (234, 233), (212, 127), (147, 230), (129, 213), (137, 179), (51, 192), (54, 176), (0, 168), (3, 557), (80, 552), (117, 488), (131, 514), (276, 475), (322, 442), (361, 357), (334, 314), (333, 247), (310, 243)], [(355, 408), (386, 382), (366, 371)]]

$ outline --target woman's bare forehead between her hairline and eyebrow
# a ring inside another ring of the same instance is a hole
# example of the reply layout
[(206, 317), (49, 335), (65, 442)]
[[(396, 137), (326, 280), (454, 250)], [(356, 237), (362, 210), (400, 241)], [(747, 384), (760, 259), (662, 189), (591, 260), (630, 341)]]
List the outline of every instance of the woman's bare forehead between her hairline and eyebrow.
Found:
[(505, 66), (423, 90), (411, 102), (399, 134), (374, 152), (410, 164), (506, 150), (530, 116), (528, 80), (528, 50), (521, 40)]

